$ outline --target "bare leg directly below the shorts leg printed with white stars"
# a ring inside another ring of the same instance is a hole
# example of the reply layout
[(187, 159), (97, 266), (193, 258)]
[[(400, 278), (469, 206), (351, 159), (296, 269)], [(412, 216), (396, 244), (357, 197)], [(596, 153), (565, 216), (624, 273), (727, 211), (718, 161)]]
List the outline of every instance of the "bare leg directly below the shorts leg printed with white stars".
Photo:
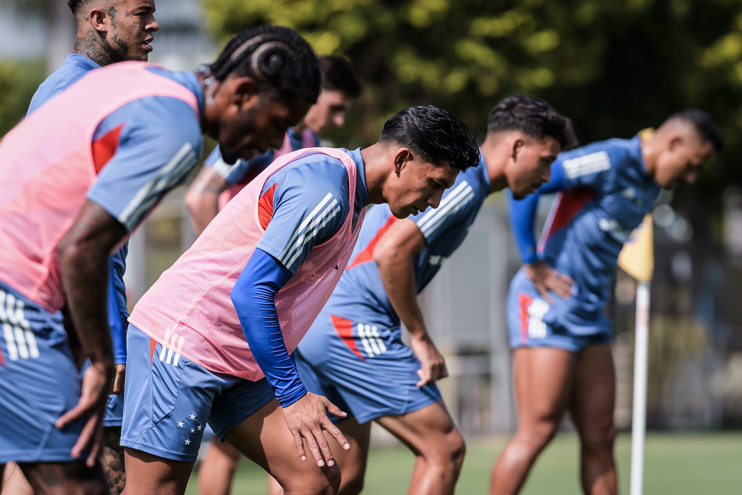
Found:
[(124, 448), (125, 495), (183, 495), (193, 462), (174, 461), (133, 448)]

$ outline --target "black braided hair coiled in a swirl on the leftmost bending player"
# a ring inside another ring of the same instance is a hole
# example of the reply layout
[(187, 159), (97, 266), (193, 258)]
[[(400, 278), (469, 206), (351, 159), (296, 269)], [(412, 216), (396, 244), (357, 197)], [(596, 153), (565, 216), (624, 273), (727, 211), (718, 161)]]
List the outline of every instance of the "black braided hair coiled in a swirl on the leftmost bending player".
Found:
[(209, 70), (218, 81), (231, 73), (250, 76), (288, 101), (301, 96), (313, 104), (320, 91), (317, 56), (306, 39), (288, 27), (241, 30), (227, 43), (217, 61), (209, 65)]

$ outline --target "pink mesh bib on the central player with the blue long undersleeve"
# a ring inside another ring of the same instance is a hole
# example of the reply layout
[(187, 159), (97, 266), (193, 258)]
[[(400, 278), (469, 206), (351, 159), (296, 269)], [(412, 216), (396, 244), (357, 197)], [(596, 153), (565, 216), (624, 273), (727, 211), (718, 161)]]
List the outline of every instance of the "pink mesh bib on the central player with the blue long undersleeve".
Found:
[(230, 294), (263, 237), (258, 200), (272, 174), (308, 154), (341, 160), (348, 171), (350, 209), (332, 239), (315, 246), (276, 294), (283, 340), (292, 353), (329, 299), (361, 232), (365, 209), (352, 229), (355, 163), (334, 148), (306, 148), (285, 154), (249, 183), (139, 300), (129, 321), (139, 330), (207, 370), (248, 380), (263, 378), (237, 319)]

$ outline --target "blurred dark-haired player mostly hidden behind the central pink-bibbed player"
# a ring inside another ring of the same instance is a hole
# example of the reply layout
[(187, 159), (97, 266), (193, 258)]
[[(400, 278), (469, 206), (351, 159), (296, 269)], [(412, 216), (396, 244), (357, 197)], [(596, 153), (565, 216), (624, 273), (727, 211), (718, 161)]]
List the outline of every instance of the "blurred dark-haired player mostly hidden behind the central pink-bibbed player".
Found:
[(273, 160), (291, 151), (319, 146), (322, 134), (344, 124), (349, 106), (360, 96), (363, 87), (352, 65), (343, 57), (321, 56), (319, 61), (320, 96), (299, 125), (289, 128), (280, 148), (271, 148), (252, 160), (226, 165), (217, 146), (206, 159), (185, 195), (185, 205), (191, 212), (197, 234), (200, 235), (217, 212)]

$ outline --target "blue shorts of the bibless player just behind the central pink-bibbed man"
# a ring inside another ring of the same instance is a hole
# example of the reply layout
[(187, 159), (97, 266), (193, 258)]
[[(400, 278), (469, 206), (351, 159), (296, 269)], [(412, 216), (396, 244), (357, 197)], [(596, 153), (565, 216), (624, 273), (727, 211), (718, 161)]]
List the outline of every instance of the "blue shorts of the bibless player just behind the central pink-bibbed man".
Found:
[(401, 341), (400, 327), (380, 329), (323, 309), (295, 355), (306, 390), (325, 396), (359, 423), (411, 413), (441, 399), (436, 384), (417, 387), (420, 361)]

